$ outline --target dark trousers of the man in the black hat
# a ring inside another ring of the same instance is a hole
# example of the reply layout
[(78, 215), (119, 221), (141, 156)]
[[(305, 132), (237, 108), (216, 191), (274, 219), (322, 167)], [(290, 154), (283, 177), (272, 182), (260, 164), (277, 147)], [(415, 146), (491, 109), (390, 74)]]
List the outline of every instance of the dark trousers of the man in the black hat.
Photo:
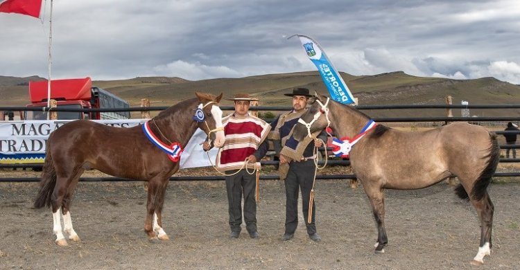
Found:
[(291, 162), (289, 172), (285, 179), (286, 192), (286, 217), (285, 232), (294, 233), (298, 226), (298, 194), (302, 190), (302, 212), (307, 227), (307, 233), (316, 233), (315, 217), (316, 207), (313, 202), (312, 221), (309, 224), (309, 201), (314, 180), (314, 161)]

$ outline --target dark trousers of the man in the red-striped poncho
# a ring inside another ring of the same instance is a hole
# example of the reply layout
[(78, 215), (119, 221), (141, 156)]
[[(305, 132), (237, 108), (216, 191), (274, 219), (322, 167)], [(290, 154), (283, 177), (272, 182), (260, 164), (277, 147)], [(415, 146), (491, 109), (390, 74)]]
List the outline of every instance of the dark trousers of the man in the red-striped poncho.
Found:
[[(232, 174), (236, 170), (228, 170)], [(257, 231), (257, 202), (254, 201), (254, 190), (257, 188), (255, 174), (241, 170), (238, 174), (225, 177), (227, 202), (229, 204), (229, 226), (231, 231), (241, 231), (242, 193), (244, 195), (244, 221), (248, 232)]]

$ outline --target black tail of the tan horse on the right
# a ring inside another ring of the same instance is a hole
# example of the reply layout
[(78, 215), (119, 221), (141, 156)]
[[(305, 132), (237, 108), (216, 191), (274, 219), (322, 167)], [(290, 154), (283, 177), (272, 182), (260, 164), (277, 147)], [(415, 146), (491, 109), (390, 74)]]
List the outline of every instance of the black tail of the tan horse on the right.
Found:
[[(480, 176), (471, 189), (471, 197), (476, 200), (480, 200), (484, 197), (487, 186), (491, 183), (492, 176), (495, 173), (496, 166), (499, 164), (500, 160), (500, 147), (499, 142), (496, 141), (496, 134), (494, 132), (489, 132), (489, 139), (491, 141), (491, 145), (489, 145), (488, 149), (489, 154), (484, 156), (484, 158), (487, 158), (487, 165), (484, 170), (480, 172)], [(469, 199), (469, 195), (462, 184), (458, 184), (455, 188), (455, 192), (460, 199)]]

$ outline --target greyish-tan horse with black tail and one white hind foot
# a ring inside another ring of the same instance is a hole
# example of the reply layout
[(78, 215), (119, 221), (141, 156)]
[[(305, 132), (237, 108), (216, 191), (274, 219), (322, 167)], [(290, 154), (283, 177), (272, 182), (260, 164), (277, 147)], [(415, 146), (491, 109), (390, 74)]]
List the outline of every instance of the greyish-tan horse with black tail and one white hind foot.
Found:
[(471, 201), (480, 218), (480, 246), (471, 264), (483, 264), (491, 252), (494, 206), (487, 186), (499, 163), (496, 135), (483, 127), (451, 123), (424, 132), (402, 132), (376, 125), (365, 114), (321, 96), (300, 117), (293, 137), (300, 141), (330, 126), (342, 143), (339, 151), (349, 152), (356, 177), (363, 183), (378, 236), (376, 253), (388, 244), (385, 231), (383, 189), (425, 188), (456, 176), (456, 194)]

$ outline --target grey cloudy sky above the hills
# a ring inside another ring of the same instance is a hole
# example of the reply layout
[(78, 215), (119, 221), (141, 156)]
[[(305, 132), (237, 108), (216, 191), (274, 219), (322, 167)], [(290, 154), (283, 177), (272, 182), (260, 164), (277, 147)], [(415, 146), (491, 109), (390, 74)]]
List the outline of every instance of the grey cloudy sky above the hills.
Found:
[[(43, 19), (0, 13), (0, 75), (47, 78)], [(520, 84), (518, 0), (53, 1), (52, 78), (187, 80), (315, 71), (313, 37), (339, 71), (487, 76)]]

